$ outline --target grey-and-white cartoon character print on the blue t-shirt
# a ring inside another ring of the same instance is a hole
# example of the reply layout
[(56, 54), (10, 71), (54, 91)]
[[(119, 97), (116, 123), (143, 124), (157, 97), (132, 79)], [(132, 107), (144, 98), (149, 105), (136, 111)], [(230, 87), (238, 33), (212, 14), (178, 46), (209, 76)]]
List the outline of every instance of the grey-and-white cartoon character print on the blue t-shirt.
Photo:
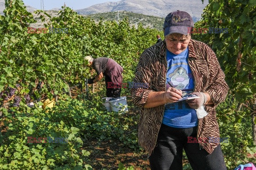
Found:
[(176, 89), (183, 90), (189, 85), (188, 73), (183, 67), (178, 67), (168, 77), (171, 80), (166, 84), (166, 88), (175, 87)]

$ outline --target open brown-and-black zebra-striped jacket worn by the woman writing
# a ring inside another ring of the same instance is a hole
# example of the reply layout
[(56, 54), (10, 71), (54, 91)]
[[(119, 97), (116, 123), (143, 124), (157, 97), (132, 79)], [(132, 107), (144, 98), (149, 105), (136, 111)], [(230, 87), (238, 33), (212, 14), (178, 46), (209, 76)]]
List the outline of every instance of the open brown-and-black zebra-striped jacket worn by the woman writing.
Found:
[[(195, 92), (207, 92), (213, 105), (205, 105), (207, 116), (198, 120), (197, 139), (219, 138), (215, 107), (225, 100), (229, 87), (225, 82), (225, 74), (221, 70), (213, 50), (206, 44), (191, 39), (188, 44), (188, 63), (194, 75)], [(139, 107), (138, 124), (139, 145), (149, 155), (155, 148), (157, 135), (162, 124), (164, 105), (144, 108), (151, 91), (166, 91), (166, 43), (155, 44), (146, 49), (137, 65), (134, 83), (147, 83), (148, 88), (132, 88), (133, 103)], [(210, 154), (218, 143), (198, 140), (198, 143)]]

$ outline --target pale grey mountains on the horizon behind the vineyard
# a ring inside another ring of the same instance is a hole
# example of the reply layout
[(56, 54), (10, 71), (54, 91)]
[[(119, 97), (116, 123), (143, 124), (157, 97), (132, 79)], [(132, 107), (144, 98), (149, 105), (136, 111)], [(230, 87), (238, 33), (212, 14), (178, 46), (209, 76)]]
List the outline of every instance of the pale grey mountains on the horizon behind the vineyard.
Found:
[[(3, 15), (5, 1), (0, 0), (0, 14)], [(208, 1), (202, 3), (201, 0), (121, 0), (118, 2), (107, 2), (92, 5), (81, 10), (75, 10), (78, 14), (89, 15), (95, 13), (105, 13), (114, 11), (130, 11), (144, 15), (153, 15), (164, 18), (172, 11), (186, 11), (194, 21), (201, 18), (203, 8), (208, 4)], [(26, 5), (27, 6), (27, 5)], [(27, 6), (29, 12), (33, 12), (36, 8)]]

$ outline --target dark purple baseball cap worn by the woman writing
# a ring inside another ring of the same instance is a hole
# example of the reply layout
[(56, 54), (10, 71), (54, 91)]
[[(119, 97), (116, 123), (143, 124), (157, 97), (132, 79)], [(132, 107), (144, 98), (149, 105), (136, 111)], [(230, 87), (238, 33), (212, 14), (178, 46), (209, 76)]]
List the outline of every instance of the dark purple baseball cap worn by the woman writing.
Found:
[(179, 10), (171, 12), (164, 20), (164, 36), (170, 33), (188, 35), (188, 27), (194, 27), (194, 22), (187, 12)]

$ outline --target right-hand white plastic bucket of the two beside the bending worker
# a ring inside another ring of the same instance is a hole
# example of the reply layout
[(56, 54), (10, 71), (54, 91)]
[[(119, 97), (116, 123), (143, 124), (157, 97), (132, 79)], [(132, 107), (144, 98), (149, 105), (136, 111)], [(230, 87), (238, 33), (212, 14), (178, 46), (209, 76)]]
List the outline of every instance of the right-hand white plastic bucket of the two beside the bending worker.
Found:
[(111, 107), (111, 110), (114, 112), (128, 112), (128, 106), (126, 101), (126, 96), (123, 96), (121, 98), (117, 98), (115, 100), (108, 101)]

